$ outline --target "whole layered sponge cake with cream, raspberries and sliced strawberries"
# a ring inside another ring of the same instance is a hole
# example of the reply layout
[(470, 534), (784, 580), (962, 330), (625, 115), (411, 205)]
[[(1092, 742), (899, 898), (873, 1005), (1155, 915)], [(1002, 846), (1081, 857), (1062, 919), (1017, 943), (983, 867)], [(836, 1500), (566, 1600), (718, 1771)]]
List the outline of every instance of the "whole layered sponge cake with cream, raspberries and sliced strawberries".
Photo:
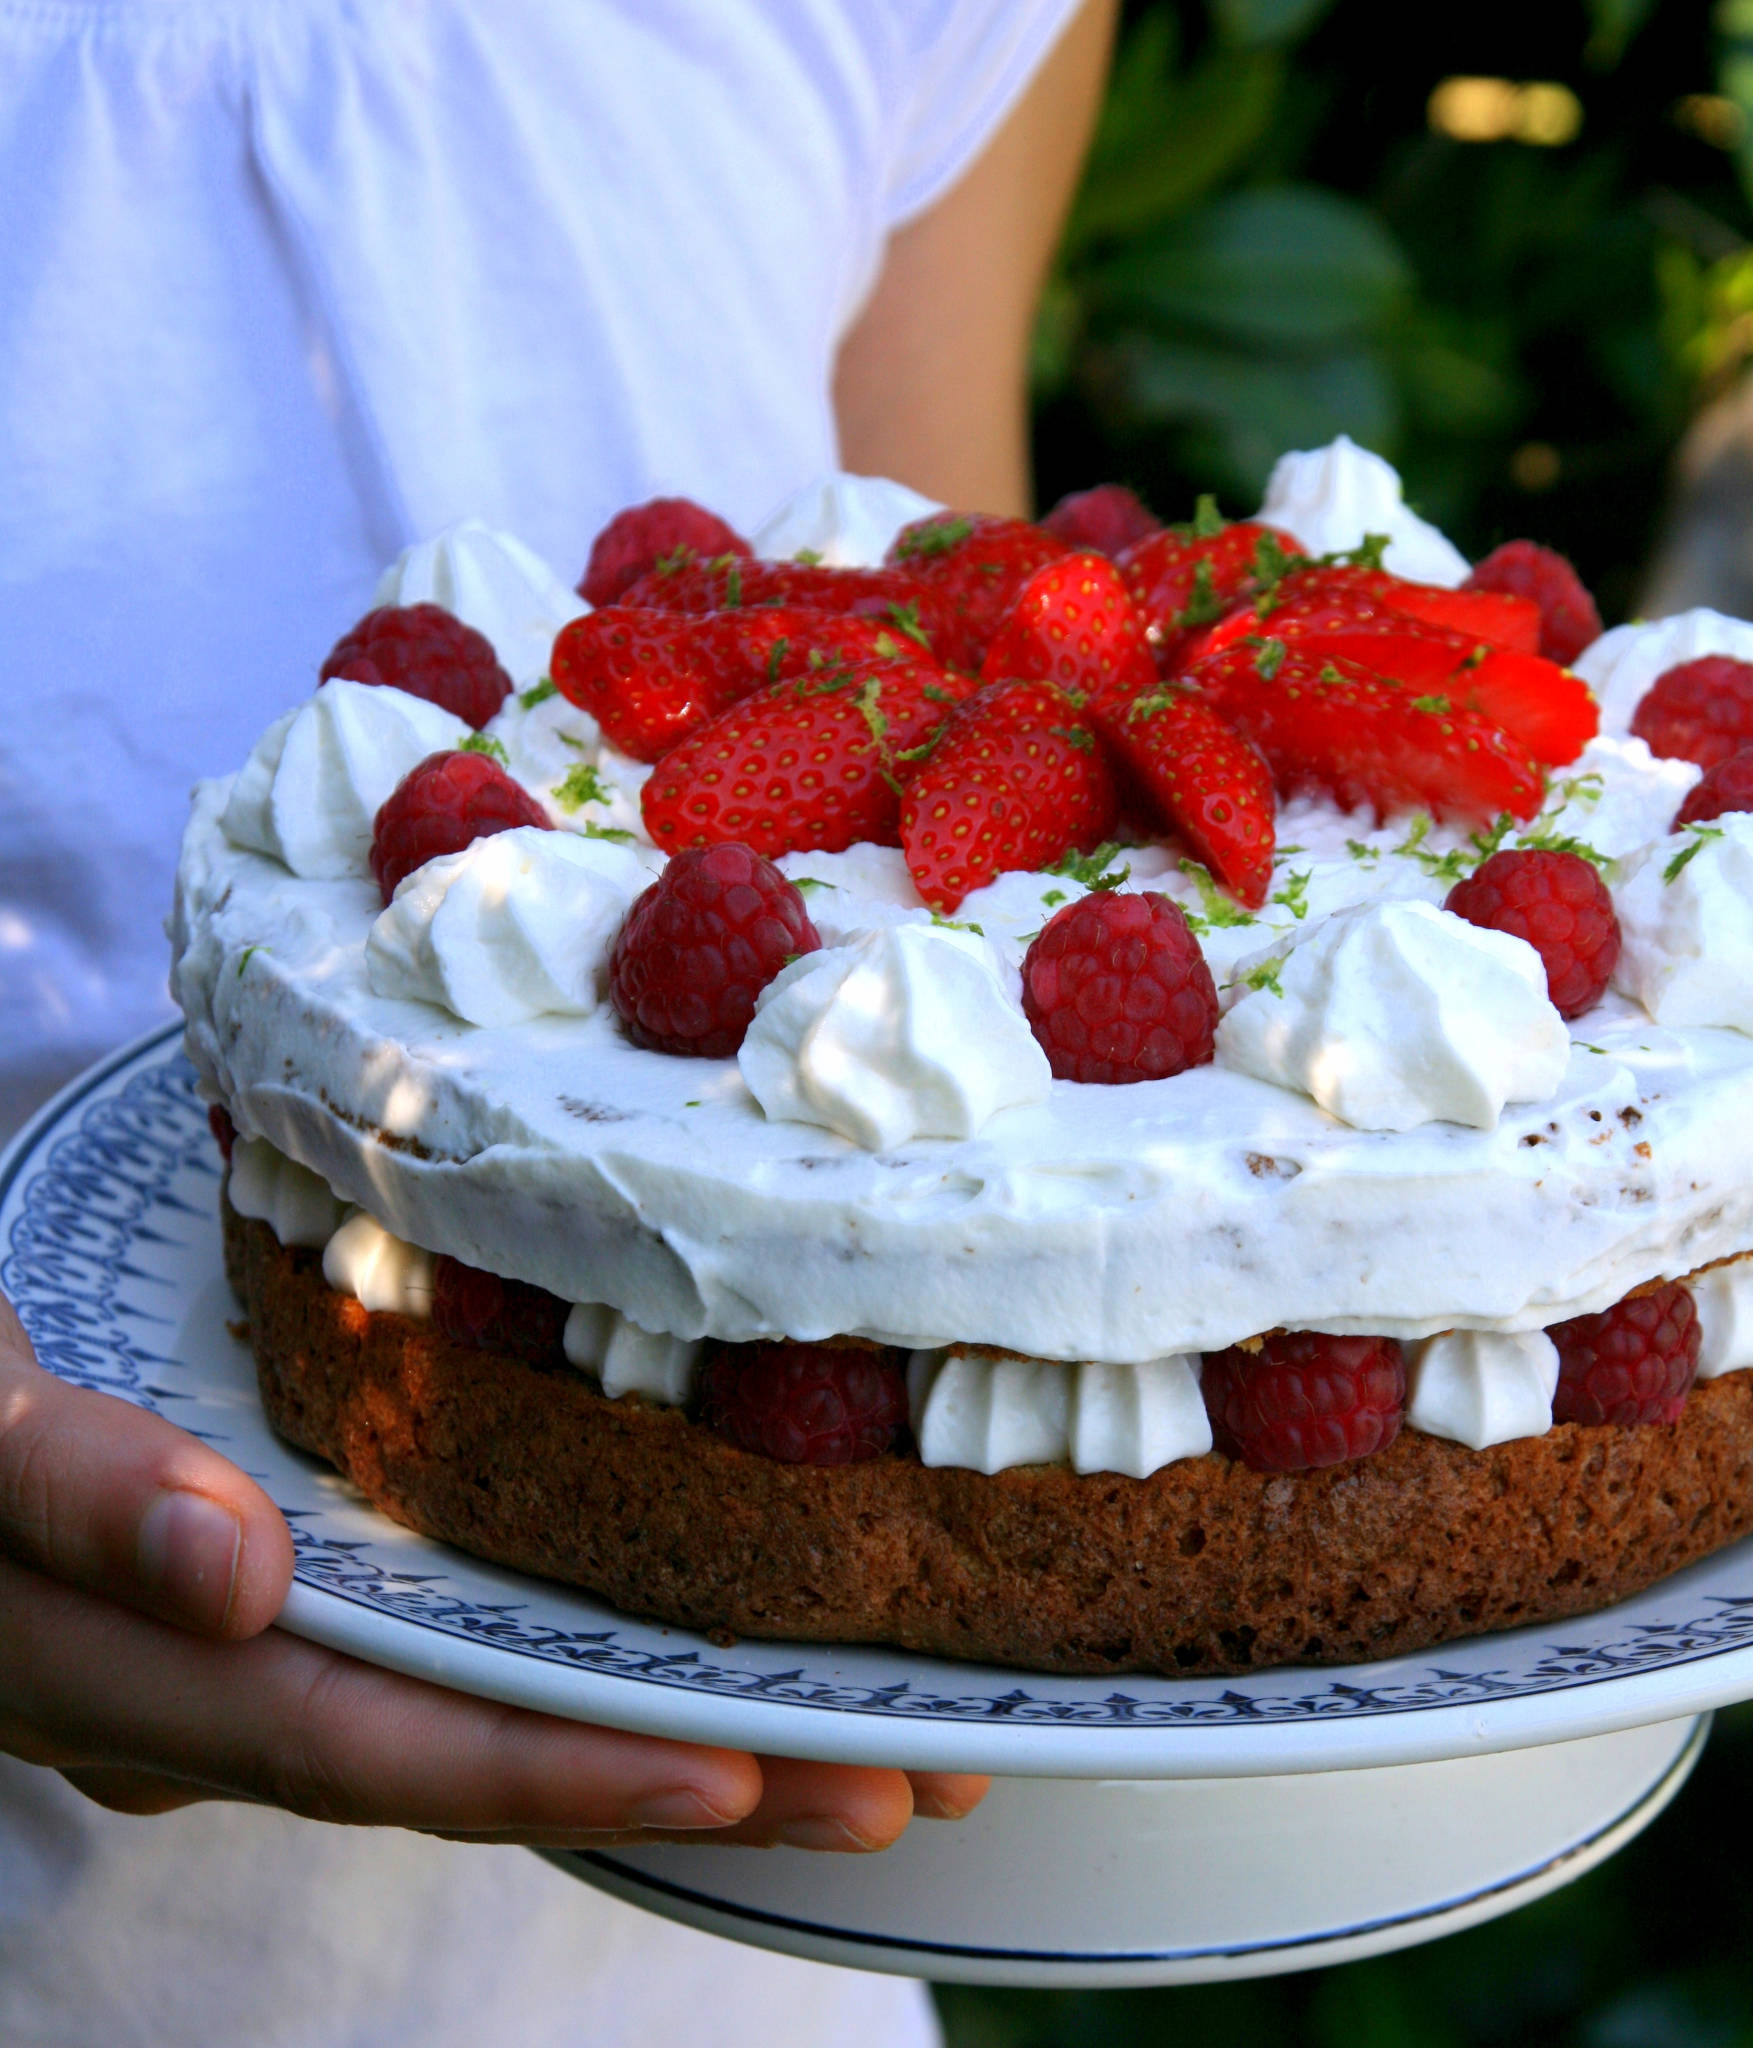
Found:
[[(463, 524), (195, 793), (274, 1427), (715, 1634), (1352, 1661), (1753, 1528), (1753, 627), (1255, 520)], [(1745, 807), (1743, 807), (1745, 805)]]

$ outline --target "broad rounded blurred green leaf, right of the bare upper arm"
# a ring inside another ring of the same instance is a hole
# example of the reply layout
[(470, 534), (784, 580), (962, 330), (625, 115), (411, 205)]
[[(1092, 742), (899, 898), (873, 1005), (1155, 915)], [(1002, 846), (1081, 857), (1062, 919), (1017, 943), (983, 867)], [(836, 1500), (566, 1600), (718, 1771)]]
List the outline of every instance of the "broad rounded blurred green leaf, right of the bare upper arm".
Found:
[(1411, 268), (1366, 207), (1307, 184), (1227, 193), (1106, 262), (1092, 309), (1229, 342), (1327, 350), (1378, 328)]

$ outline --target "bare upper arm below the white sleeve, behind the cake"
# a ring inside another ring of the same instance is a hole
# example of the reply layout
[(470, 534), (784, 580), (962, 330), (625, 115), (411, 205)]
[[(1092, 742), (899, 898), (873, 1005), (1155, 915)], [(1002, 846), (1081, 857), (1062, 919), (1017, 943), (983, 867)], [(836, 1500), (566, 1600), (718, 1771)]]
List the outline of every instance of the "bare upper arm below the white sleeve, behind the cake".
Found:
[(1028, 514), (1028, 336), (1114, 14), (1116, 0), (1085, 0), (983, 156), (891, 238), (833, 379), (848, 469), (969, 512)]

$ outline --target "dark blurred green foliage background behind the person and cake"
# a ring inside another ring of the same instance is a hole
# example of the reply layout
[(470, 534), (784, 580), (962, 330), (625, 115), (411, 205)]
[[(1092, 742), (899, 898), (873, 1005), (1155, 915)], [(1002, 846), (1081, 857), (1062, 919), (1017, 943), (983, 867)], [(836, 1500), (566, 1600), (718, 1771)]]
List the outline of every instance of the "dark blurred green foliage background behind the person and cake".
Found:
[[(1251, 512), (1345, 432), (1608, 623), (1753, 616), (1753, 0), (1132, 0), (1042, 307), (1042, 506)], [(940, 1989), (950, 2048), (1753, 2048), (1753, 1708), (1622, 1855), (1376, 1962)], [(1333, 1843), (1343, 1855), (1343, 1841)]]

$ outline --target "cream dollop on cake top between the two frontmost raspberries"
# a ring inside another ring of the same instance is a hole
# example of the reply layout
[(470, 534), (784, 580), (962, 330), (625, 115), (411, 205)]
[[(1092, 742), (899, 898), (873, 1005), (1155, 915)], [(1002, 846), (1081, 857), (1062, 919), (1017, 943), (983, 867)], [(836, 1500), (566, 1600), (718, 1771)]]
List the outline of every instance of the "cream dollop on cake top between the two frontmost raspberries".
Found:
[(768, 1116), (866, 1151), (977, 1137), (1053, 1085), (991, 946), (930, 922), (793, 961), (762, 989), (737, 1065)]

